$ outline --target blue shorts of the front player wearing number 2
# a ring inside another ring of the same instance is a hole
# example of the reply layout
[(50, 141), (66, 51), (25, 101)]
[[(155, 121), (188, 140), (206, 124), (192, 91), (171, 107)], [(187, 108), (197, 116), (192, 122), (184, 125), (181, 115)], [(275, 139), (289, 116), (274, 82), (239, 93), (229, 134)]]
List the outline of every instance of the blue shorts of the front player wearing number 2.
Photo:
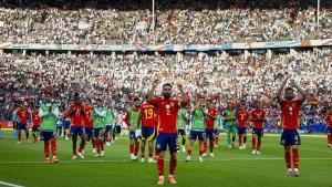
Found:
[(156, 150), (157, 152), (166, 152), (167, 145), (169, 147), (170, 153), (177, 152), (177, 145), (178, 145), (177, 134), (160, 133), (157, 135)]

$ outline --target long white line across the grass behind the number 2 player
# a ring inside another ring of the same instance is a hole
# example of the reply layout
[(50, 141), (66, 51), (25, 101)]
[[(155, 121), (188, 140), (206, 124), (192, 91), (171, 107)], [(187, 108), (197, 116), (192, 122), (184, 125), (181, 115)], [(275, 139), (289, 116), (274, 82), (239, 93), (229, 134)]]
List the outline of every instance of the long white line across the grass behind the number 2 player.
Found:
[[(165, 159), (168, 160), (168, 159)], [(185, 162), (186, 159), (178, 159), (179, 162)], [(219, 159), (206, 159), (205, 162), (241, 162), (241, 160), (283, 160), (281, 157), (271, 157), (271, 158), (219, 158)], [(300, 158), (300, 160), (332, 160), (332, 158)], [(190, 162), (196, 162), (190, 160)], [(198, 160), (197, 160), (198, 162)], [(0, 162), (0, 164), (43, 164), (44, 162)], [(128, 159), (104, 159), (104, 160), (64, 160), (60, 162), (61, 164), (79, 164), (79, 163), (138, 163), (135, 160)]]

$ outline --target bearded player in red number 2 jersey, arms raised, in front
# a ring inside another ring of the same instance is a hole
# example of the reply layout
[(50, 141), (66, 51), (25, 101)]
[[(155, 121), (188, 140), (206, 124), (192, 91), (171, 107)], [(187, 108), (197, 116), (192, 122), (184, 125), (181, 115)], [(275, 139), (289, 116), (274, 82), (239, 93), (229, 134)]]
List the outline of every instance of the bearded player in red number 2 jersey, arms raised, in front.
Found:
[(154, 81), (147, 98), (149, 104), (156, 106), (158, 115), (156, 149), (159, 153), (157, 158), (159, 180), (157, 184), (164, 184), (164, 156), (168, 145), (170, 152), (168, 181), (174, 185), (176, 184), (174, 173), (177, 165), (177, 113), (179, 107), (184, 107), (188, 104), (188, 97), (183, 90), (183, 85), (178, 83), (177, 87), (181, 93), (181, 101), (172, 98), (173, 86), (169, 83), (165, 83), (162, 92), (163, 98), (154, 98), (154, 92), (158, 83), (158, 80)]

